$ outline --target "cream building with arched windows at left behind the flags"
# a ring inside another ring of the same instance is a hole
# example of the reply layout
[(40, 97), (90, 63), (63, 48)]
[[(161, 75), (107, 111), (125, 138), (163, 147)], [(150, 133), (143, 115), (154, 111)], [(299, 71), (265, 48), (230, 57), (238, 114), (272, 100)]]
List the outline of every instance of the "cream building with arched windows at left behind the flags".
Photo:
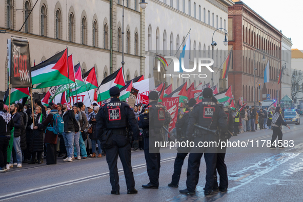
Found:
[[(12, 35), (30, 42), (31, 65), (39, 64), (68, 48), (74, 65), (82, 70), (93, 66), (98, 83), (120, 68), (122, 62), (122, 0), (88, 1), (0, 0), (0, 91), (7, 86), (7, 39)], [(124, 73), (127, 80), (144, 74), (144, 10), (137, 0), (125, 0)], [(34, 8), (33, 8), (34, 7)], [(25, 19), (28, 17), (28, 20)], [(24, 24), (24, 25), (23, 25)], [(21, 29), (22, 28), (22, 29)], [(142, 34), (143, 33), (143, 34)], [(143, 37), (142, 37), (143, 36)], [(5, 82), (4, 82), (5, 81)], [(43, 93), (47, 89), (37, 89)]]

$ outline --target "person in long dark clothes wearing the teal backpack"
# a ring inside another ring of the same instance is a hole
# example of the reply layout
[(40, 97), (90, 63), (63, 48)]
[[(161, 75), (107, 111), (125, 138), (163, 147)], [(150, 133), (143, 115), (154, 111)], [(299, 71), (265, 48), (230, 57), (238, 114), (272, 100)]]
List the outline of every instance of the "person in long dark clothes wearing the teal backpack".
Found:
[(54, 115), (58, 114), (57, 105), (51, 106), (51, 111), (47, 118), (44, 120), (43, 125), (46, 127), (46, 133), (44, 143), (46, 144), (46, 164), (57, 164), (57, 137), (52, 131), (48, 130), (47, 127), (54, 127)]

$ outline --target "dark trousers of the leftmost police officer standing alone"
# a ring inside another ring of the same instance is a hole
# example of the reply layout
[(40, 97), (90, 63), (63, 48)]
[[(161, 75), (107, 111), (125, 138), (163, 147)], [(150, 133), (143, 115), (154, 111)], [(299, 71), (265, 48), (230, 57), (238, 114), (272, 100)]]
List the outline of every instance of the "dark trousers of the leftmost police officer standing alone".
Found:
[(120, 157), (128, 191), (135, 189), (134, 174), (131, 166), (131, 146), (125, 135), (112, 135), (113, 146), (106, 151), (106, 161), (109, 168), (110, 184), (113, 191), (119, 191), (119, 174), (117, 168), (118, 155)]

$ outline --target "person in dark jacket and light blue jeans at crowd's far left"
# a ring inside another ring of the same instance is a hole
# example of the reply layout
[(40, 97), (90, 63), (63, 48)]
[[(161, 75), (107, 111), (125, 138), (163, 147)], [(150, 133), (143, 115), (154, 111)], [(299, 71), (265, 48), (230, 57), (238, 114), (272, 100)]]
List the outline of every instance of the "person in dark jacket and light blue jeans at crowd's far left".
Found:
[[(18, 113), (19, 106), (17, 104), (12, 104), (10, 106), (12, 119), (14, 121), (15, 130), (14, 130), (14, 141), (13, 141), (13, 148), (16, 152), (17, 157), (17, 168), (22, 167), (22, 151), (21, 151), (21, 145), (20, 145), (20, 139), (21, 139), (21, 131), (24, 130), (24, 122), (22, 115)], [(11, 154), (11, 160), (9, 167), (12, 168), (13, 165), (13, 155)]]

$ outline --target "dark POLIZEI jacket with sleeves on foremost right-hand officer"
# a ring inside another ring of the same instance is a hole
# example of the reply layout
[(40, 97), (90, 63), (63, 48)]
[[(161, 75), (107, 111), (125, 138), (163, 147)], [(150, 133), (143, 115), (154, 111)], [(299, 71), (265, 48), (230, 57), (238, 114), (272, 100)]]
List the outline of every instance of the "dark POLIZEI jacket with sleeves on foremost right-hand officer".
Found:
[[(214, 103), (211, 98), (205, 98), (199, 104), (196, 104), (189, 115), (189, 122), (186, 135), (192, 136), (194, 125), (203, 126), (212, 130), (220, 129), (223, 132), (227, 128), (227, 116), (221, 105)], [(199, 130), (200, 134), (209, 134), (205, 130)]]

